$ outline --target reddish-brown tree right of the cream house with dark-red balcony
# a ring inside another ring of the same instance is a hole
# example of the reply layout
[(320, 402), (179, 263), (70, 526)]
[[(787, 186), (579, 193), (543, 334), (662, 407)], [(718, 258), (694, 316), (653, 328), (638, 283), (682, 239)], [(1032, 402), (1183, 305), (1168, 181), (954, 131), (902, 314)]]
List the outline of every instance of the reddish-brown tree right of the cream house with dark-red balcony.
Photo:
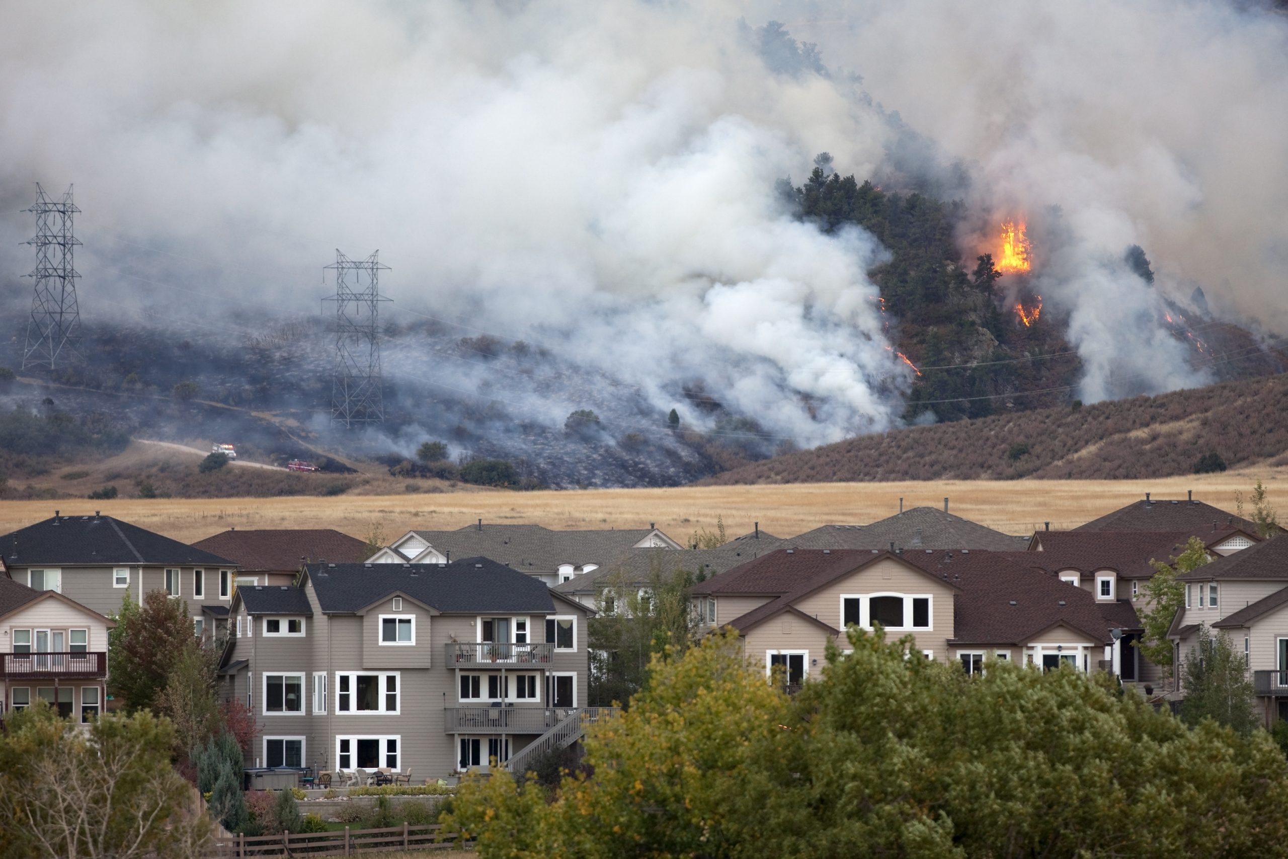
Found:
[(108, 639), (112, 693), (126, 710), (160, 712), (170, 670), (192, 645), (196, 632), (188, 603), (165, 591), (149, 591), (138, 605), (126, 594)]

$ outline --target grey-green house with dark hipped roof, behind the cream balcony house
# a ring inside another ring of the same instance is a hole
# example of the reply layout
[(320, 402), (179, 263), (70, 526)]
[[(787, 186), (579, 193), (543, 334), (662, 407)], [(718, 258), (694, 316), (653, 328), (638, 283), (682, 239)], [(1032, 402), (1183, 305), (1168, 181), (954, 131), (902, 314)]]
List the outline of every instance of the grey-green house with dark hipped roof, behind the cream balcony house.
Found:
[(0, 537), (0, 562), (13, 581), (104, 616), (120, 610), (126, 592), (142, 603), (148, 591), (165, 591), (187, 601), (198, 635), (220, 634), (237, 574), (236, 562), (97, 510), (91, 516), (55, 510), (52, 519)]

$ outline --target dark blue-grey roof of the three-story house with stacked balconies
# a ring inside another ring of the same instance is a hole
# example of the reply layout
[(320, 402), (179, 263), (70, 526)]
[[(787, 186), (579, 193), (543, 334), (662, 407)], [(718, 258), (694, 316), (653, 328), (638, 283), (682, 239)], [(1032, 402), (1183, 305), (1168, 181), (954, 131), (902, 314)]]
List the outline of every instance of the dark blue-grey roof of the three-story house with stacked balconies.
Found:
[(308, 564), (304, 569), (325, 614), (358, 612), (394, 592), (446, 613), (555, 610), (541, 580), (487, 558), (451, 564)]

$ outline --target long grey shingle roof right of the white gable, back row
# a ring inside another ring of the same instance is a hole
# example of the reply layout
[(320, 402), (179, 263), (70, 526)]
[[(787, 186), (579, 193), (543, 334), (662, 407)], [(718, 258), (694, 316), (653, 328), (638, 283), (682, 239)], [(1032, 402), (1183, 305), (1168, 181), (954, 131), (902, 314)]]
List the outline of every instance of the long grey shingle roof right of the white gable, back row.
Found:
[(605, 564), (650, 533), (652, 528), (551, 531), (484, 523), (457, 531), (417, 531), (416, 536), (453, 559), (491, 558), (526, 573), (550, 573), (559, 564)]

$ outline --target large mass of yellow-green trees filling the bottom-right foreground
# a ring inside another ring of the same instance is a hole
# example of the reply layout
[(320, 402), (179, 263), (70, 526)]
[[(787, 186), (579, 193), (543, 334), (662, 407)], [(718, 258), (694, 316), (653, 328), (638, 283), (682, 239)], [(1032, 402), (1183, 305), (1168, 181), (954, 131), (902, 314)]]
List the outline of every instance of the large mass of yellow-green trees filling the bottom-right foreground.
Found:
[(629, 712), (589, 728), (592, 775), (547, 801), (497, 773), (444, 820), (483, 859), (1288, 851), (1288, 768), (1262, 730), (1190, 729), (1068, 667), (967, 676), (911, 639), (848, 635), (793, 698), (733, 635), (659, 658)]

